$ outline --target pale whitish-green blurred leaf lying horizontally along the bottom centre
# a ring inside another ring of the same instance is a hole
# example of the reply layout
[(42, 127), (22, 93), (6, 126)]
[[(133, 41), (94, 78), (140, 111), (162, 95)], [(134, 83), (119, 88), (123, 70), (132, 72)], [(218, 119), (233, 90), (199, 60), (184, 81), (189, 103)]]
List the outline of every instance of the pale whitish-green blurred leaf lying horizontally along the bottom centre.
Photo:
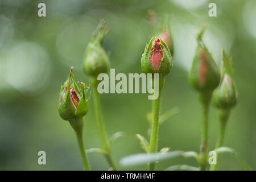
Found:
[(123, 167), (130, 167), (130, 166), (137, 166), (141, 164), (147, 164), (147, 163), (153, 163), (153, 162), (160, 162), (167, 159), (173, 159), (177, 157), (184, 157), (184, 158), (196, 158), (197, 159), (197, 153), (194, 151), (171, 151), (167, 152), (165, 154), (159, 154), (159, 153), (151, 153), (151, 154), (135, 154), (135, 155), (129, 155), (125, 156), (120, 160), (120, 165)]

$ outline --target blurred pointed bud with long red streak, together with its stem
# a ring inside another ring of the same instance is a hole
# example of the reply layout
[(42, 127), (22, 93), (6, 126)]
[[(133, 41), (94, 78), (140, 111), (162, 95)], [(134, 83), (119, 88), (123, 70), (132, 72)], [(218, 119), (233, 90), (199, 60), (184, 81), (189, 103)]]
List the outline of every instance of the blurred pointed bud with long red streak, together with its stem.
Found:
[(213, 90), (220, 83), (220, 71), (213, 60), (212, 54), (205, 46), (202, 36), (205, 28), (197, 35), (197, 48), (191, 71), (189, 72), (189, 84), (199, 91), (199, 97), (203, 106), (202, 136), (200, 155), (198, 162), (200, 169), (205, 170), (208, 166), (208, 114), (209, 104)]

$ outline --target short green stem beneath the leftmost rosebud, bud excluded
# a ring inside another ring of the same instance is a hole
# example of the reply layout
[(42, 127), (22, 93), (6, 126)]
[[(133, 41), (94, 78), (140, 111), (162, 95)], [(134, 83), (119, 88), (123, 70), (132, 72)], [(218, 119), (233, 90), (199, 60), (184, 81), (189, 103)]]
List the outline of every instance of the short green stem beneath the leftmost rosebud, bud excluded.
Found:
[(73, 121), (69, 121), (73, 129), (75, 130), (76, 133), (76, 138), (77, 142), (79, 144), (79, 149), (80, 153), (82, 156), (82, 163), (84, 164), (84, 169), (85, 171), (90, 171), (90, 164), (89, 160), (85, 151), (85, 146), (84, 146), (84, 140), (83, 140), (83, 135), (82, 135), (82, 128), (84, 126), (84, 122), (82, 121), (82, 117), (76, 118)]

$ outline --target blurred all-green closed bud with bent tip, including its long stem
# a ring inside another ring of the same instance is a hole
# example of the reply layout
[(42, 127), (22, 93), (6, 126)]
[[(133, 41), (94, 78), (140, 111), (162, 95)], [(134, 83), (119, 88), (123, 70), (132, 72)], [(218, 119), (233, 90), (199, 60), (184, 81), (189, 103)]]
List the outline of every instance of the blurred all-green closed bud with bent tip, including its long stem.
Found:
[(91, 77), (91, 82), (93, 86), (94, 110), (97, 118), (98, 129), (100, 131), (102, 146), (104, 147), (104, 150), (108, 153), (108, 155), (106, 155), (106, 159), (108, 160), (113, 170), (117, 170), (117, 165), (112, 158), (111, 145), (108, 139), (108, 135), (106, 134), (105, 124), (102, 119), (100, 94), (97, 90), (97, 76), (100, 73), (108, 72), (110, 67), (109, 57), (106, 54), (104, 48), (102, 47), (102, 42), (107, 32), (108, 27), (105, 25), (105, 21), (101, 19), (98, 27), (93, 32), (92, 39), (88, 43), (88, 46), (85, 50), (84, 71)]

